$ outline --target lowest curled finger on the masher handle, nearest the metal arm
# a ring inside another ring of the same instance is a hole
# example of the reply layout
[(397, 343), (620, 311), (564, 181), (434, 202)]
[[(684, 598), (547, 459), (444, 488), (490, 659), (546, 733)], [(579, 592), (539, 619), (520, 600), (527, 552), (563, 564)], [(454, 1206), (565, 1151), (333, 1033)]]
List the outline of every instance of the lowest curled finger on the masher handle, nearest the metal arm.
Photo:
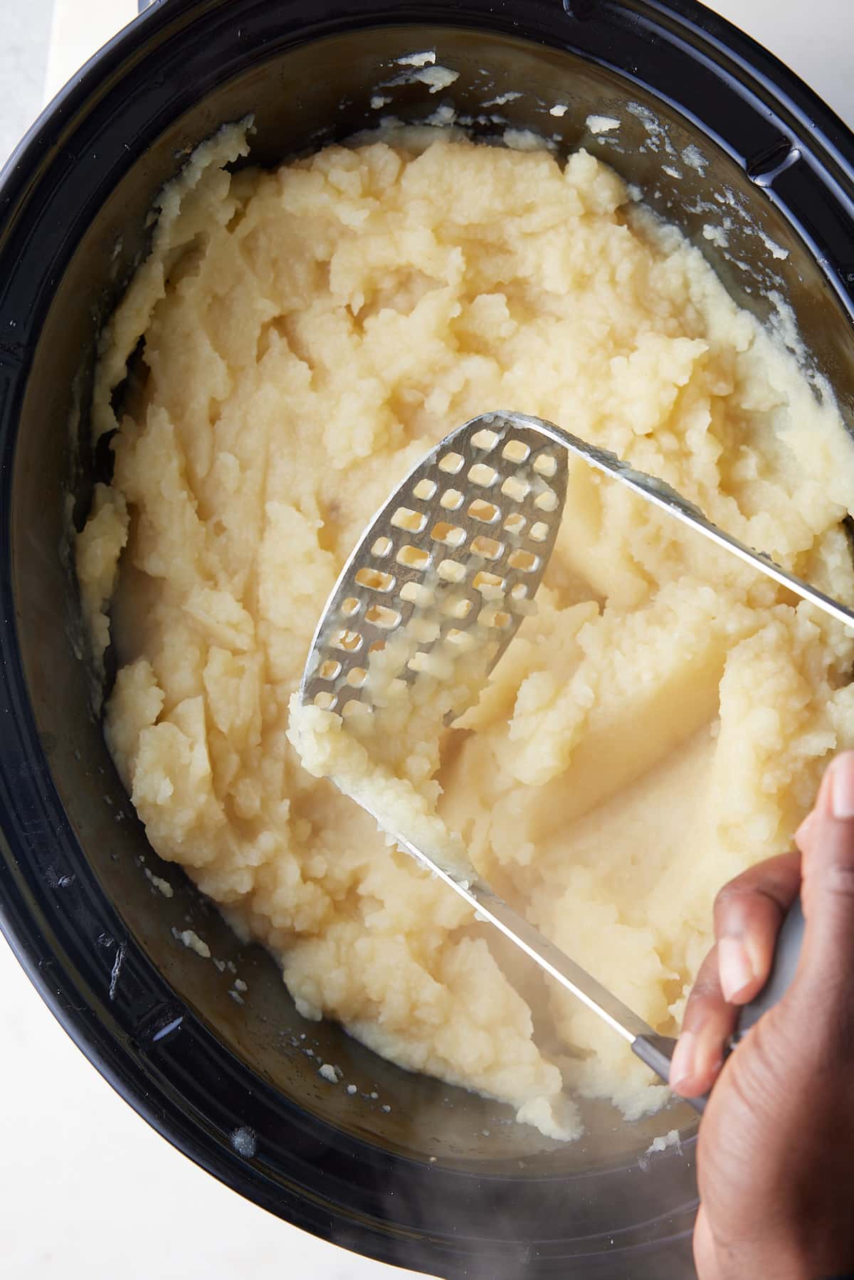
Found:
[(721, 991), (717, 947), (700, 965), (685, 1005), (682, 1029), (670, 1066), (670, 1087), (684, 1098), (712, 1088), (723, 1065), (723, 1048), (735, 1027), (735, 1009)]

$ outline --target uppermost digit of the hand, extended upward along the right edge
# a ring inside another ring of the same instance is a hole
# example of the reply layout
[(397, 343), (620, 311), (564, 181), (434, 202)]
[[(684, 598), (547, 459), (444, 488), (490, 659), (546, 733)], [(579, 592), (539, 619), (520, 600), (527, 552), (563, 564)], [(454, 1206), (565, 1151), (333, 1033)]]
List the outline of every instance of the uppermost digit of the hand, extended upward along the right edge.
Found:
[(854, 751), (825, 771), (803, 858), (807, 919), (800, 969), (807, 986), (854, 983)]

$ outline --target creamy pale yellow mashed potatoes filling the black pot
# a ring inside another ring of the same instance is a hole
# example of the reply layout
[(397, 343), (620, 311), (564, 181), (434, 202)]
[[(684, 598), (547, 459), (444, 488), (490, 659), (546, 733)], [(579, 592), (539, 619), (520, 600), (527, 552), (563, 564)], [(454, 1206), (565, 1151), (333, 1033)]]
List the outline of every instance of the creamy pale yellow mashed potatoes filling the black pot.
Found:
[[(316, 620), (388, 493), (488, 410), (613, 449), (849, 602), (854, 449), (606, 165), (433, 138), (232, 175), (232, 128), (166, 188), (104, 337), (115, 474), (78, 576), (157, 852), (273, 951), (302, 1012), (571, 1137), (574, 1094), (632, 1117), (666, 1091), (301, 765), (288, 701)], [(416, 709), (367, 745), (419, 820), (673, 1032), (716, 890), (789, 845), (854, 745), (854, 644), (577, 460), (538, 607), (461, 727), (425, 737)], [(334, 716), (302, 727), (315, 772), (366, 745)]]

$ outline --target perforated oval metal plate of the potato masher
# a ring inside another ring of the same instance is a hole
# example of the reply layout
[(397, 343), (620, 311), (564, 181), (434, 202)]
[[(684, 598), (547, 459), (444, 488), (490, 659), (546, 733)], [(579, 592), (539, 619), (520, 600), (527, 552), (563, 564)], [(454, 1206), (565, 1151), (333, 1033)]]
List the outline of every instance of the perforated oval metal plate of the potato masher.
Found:
[[(323, 612), (302, 678), (303, 703), (341, 714), (370, 701), (369, 655), (419, 614), (419, 655), (480, 623), (490, 667), (539, 588), (563, 515), (567, 452), (512, 413), (487, 413), (446, 436), (374, 517)], [(417, 628), (412, 628), (417, 634)]]

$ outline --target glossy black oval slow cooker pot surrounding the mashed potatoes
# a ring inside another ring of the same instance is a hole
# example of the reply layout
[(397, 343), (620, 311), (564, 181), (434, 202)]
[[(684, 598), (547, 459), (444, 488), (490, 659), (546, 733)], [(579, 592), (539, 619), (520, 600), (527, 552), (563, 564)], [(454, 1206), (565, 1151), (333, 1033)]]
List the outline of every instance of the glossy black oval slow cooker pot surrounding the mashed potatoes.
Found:
[[(507, 122), (548, 125), (560, 148), (597, 145), (590, 111), (624, 116), (625, 151), (603, 156), (685, 227), (739, 301), (762, 314), (763, 285), (786, 293), (850, 416), (853, 140), (699, 5), (160, 0), (60, 95), (0, 186), (3, 928), (99, 1070), (265, 1208), (443, 1276), (670, 1280), (693, 1274), (693, 1140), (649, 1167), (644, 1152), (672, 1125), (690, 1135), (690, 1111), (626, 1126), (592, 1106), (589, 1137), (562, 1147), (510, 1125), (508, 1108), (305, 1023), (269, 957), (242, 948), (146, 845), (74, 657), (64, 498), (73, 490), (79, 522), (104, 467), (86, 430), (93, 344), (145, 251), (159, 187), (189, 147), (250, 111), (254, 160), (266, 164), (352, 134), (375, 119), (370, 96), (389, 60), (433, 46), (460, 78), (447, 95), (396, 91), (408, 119), (446, 99), (474, 109), (484, 68), (492, 96), (524, 92), (502, 109)], [(548, 116), (554, 101), (568, 104), (563, 118)], [(676, 152), (700, 142), (705, 173), (668, 179), (627, 102), (668, 123)], [(709, 214), (697, 200), (727, 187), (754, 220), (734, 229), (731, 256), (754, 275), (702, 236)], [(789, 257), (773, 259), (757, 229)], [(142, 859), (174, 899), (151, 887)], [(248, 983), (245, 1005), (228, 969), (174, 941), (170, 929), (188, 927)], [(341, 1066), (357, 1097), (319, 1079), (319, 1061)]]

